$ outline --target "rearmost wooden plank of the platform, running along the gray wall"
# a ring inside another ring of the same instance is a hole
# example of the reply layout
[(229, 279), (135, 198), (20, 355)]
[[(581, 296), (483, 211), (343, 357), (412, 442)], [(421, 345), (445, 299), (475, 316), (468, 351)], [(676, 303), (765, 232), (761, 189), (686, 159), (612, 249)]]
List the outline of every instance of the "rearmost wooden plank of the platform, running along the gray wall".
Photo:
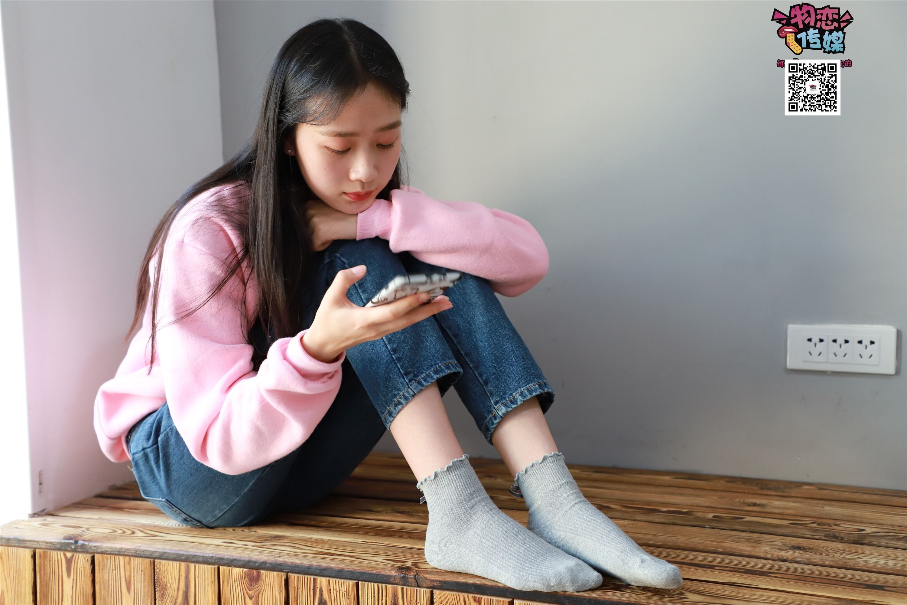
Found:
[[(565, 457), (566, 459), (566, 457)], [(511, 481), (510, 470), (496, 458), (473, 458), (470, 463), (480, 477), (492, 475), (504, 481)], [(775, 479), (755, 479), (718, 474), (680, 473), (675, 471), (652, 471), (619, 468), (614, 466), (593, 466), (571, 464), (573, 478), (582, 487), (585, 481), (642, 483), (662, 487), (704, 487), (709, 490), (729, 492), (786, 495), (819, 500), (840, 500), (842, 502), (888, 504), (907, 507), (907, 490), (840, 485), (834, 483), (802, 483)], [(415, 482), (402, 454), (372, 452), (359, 464), (354, 477), (375, 478), (384, 474), (390, 480)]]

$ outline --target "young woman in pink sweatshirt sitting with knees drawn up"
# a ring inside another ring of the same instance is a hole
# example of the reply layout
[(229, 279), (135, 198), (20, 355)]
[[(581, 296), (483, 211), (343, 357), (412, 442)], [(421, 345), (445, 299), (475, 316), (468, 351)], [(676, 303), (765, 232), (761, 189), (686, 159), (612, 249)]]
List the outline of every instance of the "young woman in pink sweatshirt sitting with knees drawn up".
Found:
[[(435, 567), (520, 590), (588, 590), (599, 571), (679, 586), (580, 493), (543, 417), (551, 385), (495, 297), (545, 275), (541, 237), (404, 184), (408, 94), (365, 24), (321, 19), (288, 38), (250, 141), (151, 237), (127, 338), (141, 329), (95, 400), (104, 454), (129, 459), (171, 518), (239, 526), (316, 503), (389, 429), (428, 503)], [(446, 269), (463, 274), (449, 299), (364, 307), (396, 275)], [(463, 454), (451, 386), (513, 473), (529, 529)]]

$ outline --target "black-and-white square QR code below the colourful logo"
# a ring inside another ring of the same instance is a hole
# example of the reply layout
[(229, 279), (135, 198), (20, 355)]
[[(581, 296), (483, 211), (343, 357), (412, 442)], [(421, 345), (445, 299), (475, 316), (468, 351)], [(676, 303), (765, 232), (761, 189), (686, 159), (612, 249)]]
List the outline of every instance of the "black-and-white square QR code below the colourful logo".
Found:
[(841, 70), (837, 60), (788, 60), (785, 115), (841, 115)]

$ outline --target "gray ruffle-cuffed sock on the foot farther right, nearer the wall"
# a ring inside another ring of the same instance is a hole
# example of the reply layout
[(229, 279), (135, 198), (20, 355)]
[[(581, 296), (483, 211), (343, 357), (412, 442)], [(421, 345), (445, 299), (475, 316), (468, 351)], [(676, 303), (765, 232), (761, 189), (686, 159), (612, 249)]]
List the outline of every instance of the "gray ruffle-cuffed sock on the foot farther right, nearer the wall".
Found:
[(529, 507), (529, 529), (561, 551), (629, 584), (677, 588), (674, 565), (639, 548), (580, 492), (561, 452), (545, 454), (516, 474)]

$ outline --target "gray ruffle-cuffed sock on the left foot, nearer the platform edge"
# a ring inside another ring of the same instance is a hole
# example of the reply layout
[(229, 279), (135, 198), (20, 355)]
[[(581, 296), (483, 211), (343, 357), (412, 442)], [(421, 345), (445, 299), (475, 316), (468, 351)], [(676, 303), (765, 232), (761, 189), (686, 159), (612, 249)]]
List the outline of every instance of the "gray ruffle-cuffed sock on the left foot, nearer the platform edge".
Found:
[(601, 584), (598, 571), (560, 551), (494, 505), (469, 454), (416, 487), (428, 503), (425, 561), (472, 573), (517, 590), (580, 591)]

